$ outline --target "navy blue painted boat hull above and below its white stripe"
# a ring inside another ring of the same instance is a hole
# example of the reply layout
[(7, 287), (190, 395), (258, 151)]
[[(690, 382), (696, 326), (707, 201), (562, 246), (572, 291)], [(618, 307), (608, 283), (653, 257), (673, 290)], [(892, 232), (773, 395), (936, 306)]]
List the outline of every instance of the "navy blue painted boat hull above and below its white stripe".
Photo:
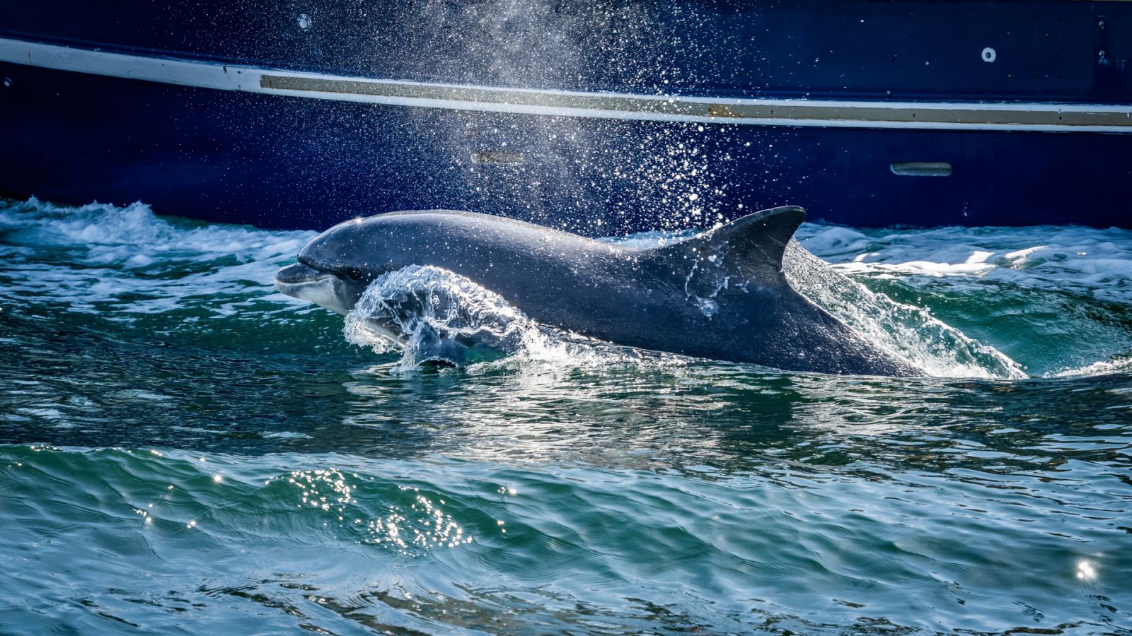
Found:
[[(0, 6), (0, 36), (509, 87), (1132, 103), (1132, 2), (50, 0)], [(452, 207), (608, 234), (782, 204), (873, 226), (1132, 224), (1132, 135), (554, 119), (0, 69), (0, 115), (15, 122), (0, 189), (17, 197), (142, 199), (271, 227)], [(953, 173), (897, 177), (894, 161)]]

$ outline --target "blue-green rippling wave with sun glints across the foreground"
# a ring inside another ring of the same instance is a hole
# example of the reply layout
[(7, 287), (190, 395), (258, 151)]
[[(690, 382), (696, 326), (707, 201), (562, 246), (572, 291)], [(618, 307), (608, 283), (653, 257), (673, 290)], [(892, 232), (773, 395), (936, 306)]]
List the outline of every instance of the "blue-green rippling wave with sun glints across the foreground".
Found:
[(338, 634), (1094, 633), (1129, 617), (1112, 527), (1129, 506), (1091, 462), (1057, 479), (767, 464), (0, 446), (8, 616)]

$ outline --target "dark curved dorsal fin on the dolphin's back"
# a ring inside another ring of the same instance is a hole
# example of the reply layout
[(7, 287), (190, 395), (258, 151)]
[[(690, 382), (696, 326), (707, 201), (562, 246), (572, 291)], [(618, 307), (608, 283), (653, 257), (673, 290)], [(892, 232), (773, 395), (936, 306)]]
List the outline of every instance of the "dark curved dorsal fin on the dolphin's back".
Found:
[[(782, 272), (787, 243), (805, 220), (806, 210), (798, 206), (764, 209), (686, 241), (646, 250), (642, 257), (676, 270), (695, 266), (745, 278), (774, 277)], [(681, 267), (681, 263), (687, 267)]]

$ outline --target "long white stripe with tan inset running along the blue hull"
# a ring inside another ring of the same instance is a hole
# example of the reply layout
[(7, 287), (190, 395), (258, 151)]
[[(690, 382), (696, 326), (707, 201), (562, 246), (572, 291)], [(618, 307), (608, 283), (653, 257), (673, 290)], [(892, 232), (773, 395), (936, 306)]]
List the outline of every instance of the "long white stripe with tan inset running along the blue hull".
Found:
[(369, 79), (0, 38), (0, 61), (269, 95), (550, 117), (743, 126), (1132, 132), (1132, 106), (1028, 102), (761, 100), (534, 91)]

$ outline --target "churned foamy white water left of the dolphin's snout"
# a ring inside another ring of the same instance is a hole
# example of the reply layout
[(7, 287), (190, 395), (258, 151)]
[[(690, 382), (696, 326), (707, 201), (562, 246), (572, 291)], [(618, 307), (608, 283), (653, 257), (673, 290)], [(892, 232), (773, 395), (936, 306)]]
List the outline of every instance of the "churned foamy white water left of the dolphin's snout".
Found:
[[(192, 306), (223, 316), (237, 313), (249, 291), (271, 290), (263, 298), (281, 309), (305, 307), (274, 293), (272, 282), (314, 232), (162, 218), (140, 203), (66, 207), (34, 197), (0, 200), (0, 231), (7, 233), (0, 255), (10, 281), (0, 296), (11, 300), (44, 296), (92, 313), (106, 307), (162, 313)], [(37, 255), (46, 251), (63, 252), (80, 267), (44, 264)]]

